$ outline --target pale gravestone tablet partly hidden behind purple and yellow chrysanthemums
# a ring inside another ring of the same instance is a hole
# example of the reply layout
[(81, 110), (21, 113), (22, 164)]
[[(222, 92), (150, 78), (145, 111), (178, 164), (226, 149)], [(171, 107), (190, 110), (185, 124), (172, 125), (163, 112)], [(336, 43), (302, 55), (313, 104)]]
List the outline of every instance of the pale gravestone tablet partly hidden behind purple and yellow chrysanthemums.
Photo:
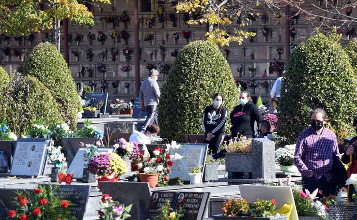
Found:
[[(113, 152), (114, 148), (112, 147), (98, 147), (98, 153), (109, 153)], [(66, 174), (73, 174), (74, 179), (81, 179), (83, 177), (83, 168), (87, 165), (88, 161), (85, 161), (84, 154), (86, 152), (85, 147), (78, 149), (75, 158), (69, 165)]]

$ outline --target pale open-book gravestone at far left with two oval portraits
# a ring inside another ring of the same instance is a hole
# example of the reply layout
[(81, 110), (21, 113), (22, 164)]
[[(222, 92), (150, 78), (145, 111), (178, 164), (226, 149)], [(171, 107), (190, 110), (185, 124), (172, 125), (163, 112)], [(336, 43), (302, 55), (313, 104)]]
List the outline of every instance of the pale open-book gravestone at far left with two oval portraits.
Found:
[(47, 161), (46, 139), (17, 139), (10, 176), (42, 176)]

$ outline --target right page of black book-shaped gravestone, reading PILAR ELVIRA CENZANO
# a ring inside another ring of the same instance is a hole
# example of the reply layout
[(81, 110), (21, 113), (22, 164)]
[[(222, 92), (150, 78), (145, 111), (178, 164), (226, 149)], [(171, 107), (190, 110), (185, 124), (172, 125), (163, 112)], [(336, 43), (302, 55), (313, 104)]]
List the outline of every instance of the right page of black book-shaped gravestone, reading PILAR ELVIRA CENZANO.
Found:
[(185, 220), (202, 220), (209, 201), (209, 192), (178, 192), (174, 210), (183, 207)]

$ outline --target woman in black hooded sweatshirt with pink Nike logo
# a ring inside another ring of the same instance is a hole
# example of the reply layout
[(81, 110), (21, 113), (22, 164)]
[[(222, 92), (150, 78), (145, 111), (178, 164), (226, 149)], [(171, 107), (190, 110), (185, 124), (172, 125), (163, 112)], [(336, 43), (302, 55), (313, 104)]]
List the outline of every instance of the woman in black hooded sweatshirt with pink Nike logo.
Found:
[(239, 105), (235, 106), (231, 113), (232, 138), (246, 136), (253, 138), (255, 134), (254, 122), (258, 124), (264, 120), (258, 107), (252, 102), (248, 91), (239, 94)]

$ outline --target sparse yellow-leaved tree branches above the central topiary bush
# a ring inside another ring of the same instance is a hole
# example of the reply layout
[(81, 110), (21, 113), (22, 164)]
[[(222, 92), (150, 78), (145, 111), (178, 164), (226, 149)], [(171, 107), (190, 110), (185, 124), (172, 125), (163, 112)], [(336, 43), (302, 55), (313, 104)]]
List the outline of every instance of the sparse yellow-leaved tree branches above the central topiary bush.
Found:
[(259, 11), (255, 6), (266, 5), (271, 10), (279, 10), (280, 0), (171, 0), (175, 4), (177, 13), (188, 13), (193, 19), (187, 24), (207, 24), (207, 40), (217, 44), (229, 45), (230, 42), (242, 44), (248, 37), (254, 37), (254, 32), (227, 28), (233, 20), (237, 20), (240, 27), (245, 27), (249, 17), (255, 19)]

